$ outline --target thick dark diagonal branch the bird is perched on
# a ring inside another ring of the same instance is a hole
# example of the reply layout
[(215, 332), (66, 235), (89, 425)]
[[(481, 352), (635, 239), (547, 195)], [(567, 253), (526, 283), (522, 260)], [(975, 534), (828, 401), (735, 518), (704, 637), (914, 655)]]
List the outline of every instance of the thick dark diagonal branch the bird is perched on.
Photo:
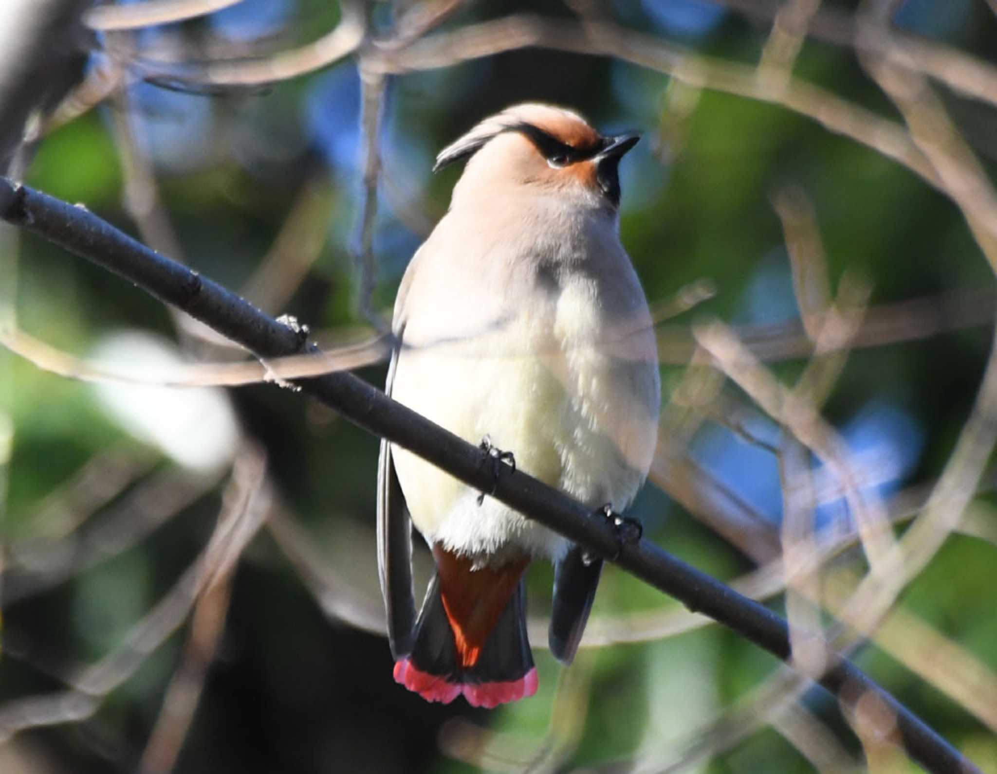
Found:
[[(151, 250), (82, 207), (0, 178), (0, 218), (23, 226), (70, 252), (130, 280), (265, 360), (318, 353), (306, 335), (264, 315), (209, 279)], [(609, 522), (585, 505), (520, 471), (493, 478), (482, 451), (439, 427), (380, 390), (348, 373), (302, 380), (300, 387), (345, 417), (411, 449), (470, 486), (492, 491), (506, 505), (598, 552), (619, 549)], [(373, 481), (373, 472), (372, 472)], [(372, 484), (373, 485), (373, 484)], [(690, 610), (724, 624), (783, 660), (790, 657), (786, 621), (759, 603), (646, 540), (623, 546), (616, 563), (680, 600)], [(979, 772), (916, 715), (876, 685), (850, 661), (833, 653), (819, 682), (845, 703), (873, 693), (896, 715), (903, 747), (931, 772)]]

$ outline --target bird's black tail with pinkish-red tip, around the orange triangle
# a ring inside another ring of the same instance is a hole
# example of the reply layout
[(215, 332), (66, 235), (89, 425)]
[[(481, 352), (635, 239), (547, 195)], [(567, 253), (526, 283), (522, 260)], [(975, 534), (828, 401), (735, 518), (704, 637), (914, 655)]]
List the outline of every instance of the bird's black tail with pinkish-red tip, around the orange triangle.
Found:
[(395, 666), (395, 679), (430, 701), (453, 701), (463, 693), (475, 706), (495, 706), (532, 695), (536, 670), (526, 638), (525, 590), (520, 580), (478, 659), (463, 666), (454, 631), (433, 576), (412, 652)]

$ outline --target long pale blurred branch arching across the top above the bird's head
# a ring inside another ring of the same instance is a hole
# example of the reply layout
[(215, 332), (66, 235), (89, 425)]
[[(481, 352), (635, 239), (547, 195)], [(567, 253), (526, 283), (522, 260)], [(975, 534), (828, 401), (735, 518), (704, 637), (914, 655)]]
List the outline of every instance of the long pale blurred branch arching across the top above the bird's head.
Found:
[[(425, 29), (430, 29), (444, 15), (431, 15), (432, 23)], [(362, 10), (353, 3), (344, 3), (343, 18), (333, 32), (294, 51), (248, 62), (215, 62), (173, 70), (157, 70), (149, 63), (140, 63), (139, 67), (150, 80), (193, 90), (260, 86), (328, 67), (357, 51), (364, 36)], [(450, 67), (532, 46), (612, 56), (672, 76), (694, 89), (711, 89), (780, 105), (877, 150), (921, 175), (929, 184), (938, 185), (934, 169), (895, 122), (800, 79), (759, 78), (758, 70), (752, 66), (701, 56), (607, 21), (575, 22), (515, 14), (424, 37), (400, 31), (396, 38), (374, 41), (361, 52), (360, 59), (368, 77), (383, 77)]]

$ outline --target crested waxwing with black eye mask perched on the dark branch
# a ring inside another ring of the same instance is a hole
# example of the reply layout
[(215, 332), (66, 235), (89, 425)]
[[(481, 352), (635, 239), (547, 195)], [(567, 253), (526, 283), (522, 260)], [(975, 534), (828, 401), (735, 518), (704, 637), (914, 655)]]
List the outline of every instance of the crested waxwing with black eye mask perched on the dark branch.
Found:
[[(619, 237), (622, 156), (577, 113), (522, 104), (437, 156), (466, 161), (399, 287), (386, 391), (593, 514), (625, 509), (657, 439), (647, 300)], [(430, 701), (495, 707), (535, 693), (523, 573), (554, 565), (553, 655), (569, 664), (603, 560), (382, 441), (378, 564), (395, 680)], [(616, 518), (619, 525), (620, 520)], [(436, 574), (418, 618), (412, 525)]]

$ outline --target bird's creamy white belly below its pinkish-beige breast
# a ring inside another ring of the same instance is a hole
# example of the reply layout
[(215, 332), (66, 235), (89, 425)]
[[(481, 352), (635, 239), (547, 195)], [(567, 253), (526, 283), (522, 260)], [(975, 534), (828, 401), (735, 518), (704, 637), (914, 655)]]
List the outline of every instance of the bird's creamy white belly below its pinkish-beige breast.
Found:
[[(656, 408), (620, 378), (590, 293), (561, 293), (545, 309), (461, 341), (407, 337), (392, 396), (471, 443), (490, 436), (516, 468), (593, 509), (622, 509), (650, 464)], [(656, 385), (656, 364), (642, 368)], [(523, 551), (556, 560), (566, 550), (564, 538), (494, 498), (479, 505), (479, 492), (416, 455), (394, 447), (393, 456), (413, 523), (430, 543), (498, 561)]]

